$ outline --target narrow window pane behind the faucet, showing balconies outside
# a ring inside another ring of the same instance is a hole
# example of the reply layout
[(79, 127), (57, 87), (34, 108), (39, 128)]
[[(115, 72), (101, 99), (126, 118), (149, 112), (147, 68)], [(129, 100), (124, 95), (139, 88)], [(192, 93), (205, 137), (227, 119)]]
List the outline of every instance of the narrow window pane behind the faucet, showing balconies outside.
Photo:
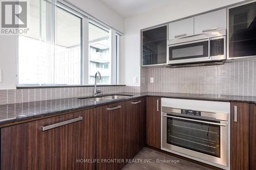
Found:
[(98, 84), (111, 84), (110, 31), (89, 23), (89, 84), (94, 84), (94, 75), (101, 74)]

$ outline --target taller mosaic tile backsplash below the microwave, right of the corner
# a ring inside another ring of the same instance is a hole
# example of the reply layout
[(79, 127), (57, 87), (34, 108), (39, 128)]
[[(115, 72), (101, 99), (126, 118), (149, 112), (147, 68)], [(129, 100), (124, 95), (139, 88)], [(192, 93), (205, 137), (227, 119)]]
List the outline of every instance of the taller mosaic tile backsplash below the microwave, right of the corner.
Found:
[[(150, 78), (154, 83), (150, 83)], [(256, 96), (256, 61), (198, 67), (141, 68), (141, 92)]]

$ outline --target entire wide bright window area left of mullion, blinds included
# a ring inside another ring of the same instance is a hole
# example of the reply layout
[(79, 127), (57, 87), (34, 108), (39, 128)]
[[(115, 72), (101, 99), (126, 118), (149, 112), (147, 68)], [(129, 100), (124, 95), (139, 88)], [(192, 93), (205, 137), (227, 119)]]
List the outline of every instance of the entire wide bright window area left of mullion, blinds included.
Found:
[[(28, 1), (30, 30), (19, 35), (19, 85), (81, 84), (82, 19), (49, 2)], [(54, 8), (56, 15), (49, 12)]]

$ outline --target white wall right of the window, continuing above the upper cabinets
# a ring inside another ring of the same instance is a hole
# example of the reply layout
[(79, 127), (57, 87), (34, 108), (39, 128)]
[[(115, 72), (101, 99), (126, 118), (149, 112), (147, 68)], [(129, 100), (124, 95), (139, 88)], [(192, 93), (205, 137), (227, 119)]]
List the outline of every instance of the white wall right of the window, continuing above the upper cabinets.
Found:
[[(179, 18), (220, 8), (243, 0), (174, 0), (172, 5), (153, 9), (125, 19), (124, 47), (122, 48), (121, 82), (140, 85), (140, 30)], [(139, 77), (133, 83), (133, 77)]]

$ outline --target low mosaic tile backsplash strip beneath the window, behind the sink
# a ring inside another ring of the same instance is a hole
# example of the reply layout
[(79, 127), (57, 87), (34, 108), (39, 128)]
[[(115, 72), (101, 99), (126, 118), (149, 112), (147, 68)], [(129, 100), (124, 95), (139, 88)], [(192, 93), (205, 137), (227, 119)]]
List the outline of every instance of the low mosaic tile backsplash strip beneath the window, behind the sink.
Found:
[[(101, 86), (103, 93), (140, 92), (136, 86)], [(94, 87), (63, 87), (0, 90), (0, 105), (93, 95)]]

